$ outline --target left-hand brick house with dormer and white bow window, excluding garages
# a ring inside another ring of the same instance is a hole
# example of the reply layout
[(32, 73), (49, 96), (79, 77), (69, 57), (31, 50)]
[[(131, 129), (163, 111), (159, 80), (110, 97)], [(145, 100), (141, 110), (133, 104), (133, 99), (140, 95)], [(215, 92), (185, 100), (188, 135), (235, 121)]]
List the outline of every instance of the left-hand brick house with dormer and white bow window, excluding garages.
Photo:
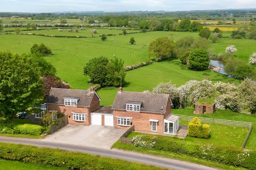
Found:
[(68, 117), (68, 124), (91, 125), (91, 112), (100, 107), (100, 100), (94, 88), (90, 90), (51, 88), (46, 98), (46, 109), (47, 112), (65, 114)]

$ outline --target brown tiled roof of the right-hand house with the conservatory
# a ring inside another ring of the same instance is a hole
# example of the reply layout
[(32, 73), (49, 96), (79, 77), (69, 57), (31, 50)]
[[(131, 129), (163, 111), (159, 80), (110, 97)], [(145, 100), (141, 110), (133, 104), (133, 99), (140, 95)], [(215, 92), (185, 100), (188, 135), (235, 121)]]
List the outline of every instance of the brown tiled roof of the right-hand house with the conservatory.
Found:
[(140, 112), (165, 113), (169, 99), (167, 94), (118, 91), (112, 109), (126, 110), (126, 104), (140, 104)]

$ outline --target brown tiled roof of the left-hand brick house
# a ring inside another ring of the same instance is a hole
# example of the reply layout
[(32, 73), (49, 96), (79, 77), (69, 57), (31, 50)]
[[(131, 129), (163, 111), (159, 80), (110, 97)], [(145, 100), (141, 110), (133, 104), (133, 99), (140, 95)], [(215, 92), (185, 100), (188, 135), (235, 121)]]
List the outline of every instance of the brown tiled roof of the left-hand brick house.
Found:
[(77, 106), (89, 107), (94, 95), (100, 100), (100, 97), (95, 91), (51, 88), (49, 96), (46, 97), (46, 103), (64, 105), (64, 99), (70, 98), (78, 100)]

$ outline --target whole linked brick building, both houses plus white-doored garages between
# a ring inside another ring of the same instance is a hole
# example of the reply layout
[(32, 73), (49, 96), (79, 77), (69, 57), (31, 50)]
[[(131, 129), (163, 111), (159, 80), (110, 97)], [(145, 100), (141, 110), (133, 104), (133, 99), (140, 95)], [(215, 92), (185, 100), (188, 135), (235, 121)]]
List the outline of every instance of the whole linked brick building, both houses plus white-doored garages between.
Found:
[(94, 88), (51, 88), (46, 110), (65, 114), (68, 124), (104, 125), (117, 129), (129, 129), (134, 125), (136, 131), (157, 134), (175, 134), (179, 129), (179, 117), (171, 114), (169, 95), (129, 92), (119, 88), (112, 107), (100, 106), (100, 100)]

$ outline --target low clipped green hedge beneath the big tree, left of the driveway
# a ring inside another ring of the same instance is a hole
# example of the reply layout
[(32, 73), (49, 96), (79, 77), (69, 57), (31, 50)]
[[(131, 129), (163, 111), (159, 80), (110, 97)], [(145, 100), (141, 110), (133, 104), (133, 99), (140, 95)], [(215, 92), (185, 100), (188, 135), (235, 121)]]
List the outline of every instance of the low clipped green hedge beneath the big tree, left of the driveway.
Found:
[(43, 127), (35, 124), (0, 123), (0, 134), (29, 134), (41, 135)]

